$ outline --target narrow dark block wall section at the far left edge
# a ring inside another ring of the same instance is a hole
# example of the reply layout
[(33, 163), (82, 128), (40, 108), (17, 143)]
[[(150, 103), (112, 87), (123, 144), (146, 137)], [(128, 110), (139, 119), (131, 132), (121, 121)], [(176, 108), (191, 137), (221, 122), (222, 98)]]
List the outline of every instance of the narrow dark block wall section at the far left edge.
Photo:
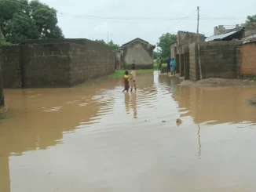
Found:
[(3, 86), (20, 88), (20, 45), (2, 46), (0, 62), (2, 63)]

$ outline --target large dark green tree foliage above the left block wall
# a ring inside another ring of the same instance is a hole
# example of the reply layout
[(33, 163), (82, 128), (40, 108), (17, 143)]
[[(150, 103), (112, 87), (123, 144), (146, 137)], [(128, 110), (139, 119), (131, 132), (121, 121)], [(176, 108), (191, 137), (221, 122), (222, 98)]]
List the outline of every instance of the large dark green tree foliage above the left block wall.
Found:
[(24, 39), (64, 38), (57, 26), (57, 11), (33, 0), (0, 0), (0, 27), (7, 42)]

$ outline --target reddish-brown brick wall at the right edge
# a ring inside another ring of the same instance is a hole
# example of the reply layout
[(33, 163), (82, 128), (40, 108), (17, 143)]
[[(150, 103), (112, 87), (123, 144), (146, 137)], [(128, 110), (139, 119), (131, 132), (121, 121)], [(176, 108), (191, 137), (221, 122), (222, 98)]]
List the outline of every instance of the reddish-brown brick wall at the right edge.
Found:
[(240, 48), (240, 75), (256, 75), (256, 42)]

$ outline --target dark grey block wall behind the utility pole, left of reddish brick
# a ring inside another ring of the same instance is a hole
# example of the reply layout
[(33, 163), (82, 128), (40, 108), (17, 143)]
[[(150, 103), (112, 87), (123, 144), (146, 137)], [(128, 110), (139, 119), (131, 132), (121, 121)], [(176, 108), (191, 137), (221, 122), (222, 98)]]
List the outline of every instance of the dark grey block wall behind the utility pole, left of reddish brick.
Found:
[[(237, 78), (240, 62), (236, 49), (242, 41), (201, 42), (200, 58), (203, 78)], [(197, 44), (189, 45), (189, 75), (193, 81), (199, 80)]]

